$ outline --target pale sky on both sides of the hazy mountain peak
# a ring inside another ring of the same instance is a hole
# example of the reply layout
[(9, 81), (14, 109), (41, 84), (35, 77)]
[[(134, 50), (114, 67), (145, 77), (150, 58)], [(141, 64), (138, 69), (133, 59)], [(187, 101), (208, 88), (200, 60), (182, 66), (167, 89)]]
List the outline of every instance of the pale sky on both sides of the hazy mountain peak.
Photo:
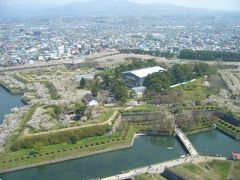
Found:
[[(71, 2), (86, 2), (90, 0), (0, 0), (0, 2), (67, 4)], [(240, 0), (128, 0), (137, 3), (168, 3), (186, 7), (206, 9), (224, 9), (240, 11)]]

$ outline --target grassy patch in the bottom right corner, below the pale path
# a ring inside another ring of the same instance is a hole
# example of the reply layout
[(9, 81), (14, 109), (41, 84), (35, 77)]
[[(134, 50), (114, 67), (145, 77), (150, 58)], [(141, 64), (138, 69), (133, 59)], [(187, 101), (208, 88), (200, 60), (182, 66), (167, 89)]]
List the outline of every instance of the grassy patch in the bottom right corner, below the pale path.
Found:
[[(225, 180), (240, 179), (240, 162), (212, 161), (199, 164), (186, 164), (171, 168), (176, 174), (186, 179)], [(230, 178), (231, 177), (231, 178)]]

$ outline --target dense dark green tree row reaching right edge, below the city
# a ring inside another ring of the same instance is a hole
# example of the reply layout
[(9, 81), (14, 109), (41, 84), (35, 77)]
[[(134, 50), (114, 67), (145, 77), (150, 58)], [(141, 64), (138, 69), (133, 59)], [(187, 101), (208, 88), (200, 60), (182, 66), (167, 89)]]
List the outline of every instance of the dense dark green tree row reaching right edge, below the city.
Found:
[(198, 59), (203, 61), (240, 61), (240, 53), (226, 52), (226, 51), (193, 51), (190, 49), (184, 49), (180, 51), (178, 56), (180, 59)]

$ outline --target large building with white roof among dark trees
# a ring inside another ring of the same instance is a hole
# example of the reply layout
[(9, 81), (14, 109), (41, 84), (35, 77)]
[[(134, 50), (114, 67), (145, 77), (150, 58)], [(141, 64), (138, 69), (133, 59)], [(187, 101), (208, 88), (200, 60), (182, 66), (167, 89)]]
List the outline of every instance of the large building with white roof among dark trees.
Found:
[(143, 82), (148, 75), (156, 72), (164, 72), (164, 71), (166, 70), (160, 66), (136, 69), (132, 71), (123, 72), (122, 79), (123, 79), (123, 82), (128, 87), (140, 87), (140, 86), (143, 86)]

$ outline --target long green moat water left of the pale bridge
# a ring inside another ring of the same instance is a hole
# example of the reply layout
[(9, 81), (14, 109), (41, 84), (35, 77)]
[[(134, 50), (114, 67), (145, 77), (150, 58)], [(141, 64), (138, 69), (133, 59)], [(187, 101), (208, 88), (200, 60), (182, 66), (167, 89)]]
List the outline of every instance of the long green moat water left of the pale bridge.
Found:
[[(168, 150), (167, 147), (173, 147)], [(130, 149), (65, 161), (0, 175), (3, 180), (80, 180), (115, 175), (121, 171), (185, 154), (173, 137), (141, 136)]]

